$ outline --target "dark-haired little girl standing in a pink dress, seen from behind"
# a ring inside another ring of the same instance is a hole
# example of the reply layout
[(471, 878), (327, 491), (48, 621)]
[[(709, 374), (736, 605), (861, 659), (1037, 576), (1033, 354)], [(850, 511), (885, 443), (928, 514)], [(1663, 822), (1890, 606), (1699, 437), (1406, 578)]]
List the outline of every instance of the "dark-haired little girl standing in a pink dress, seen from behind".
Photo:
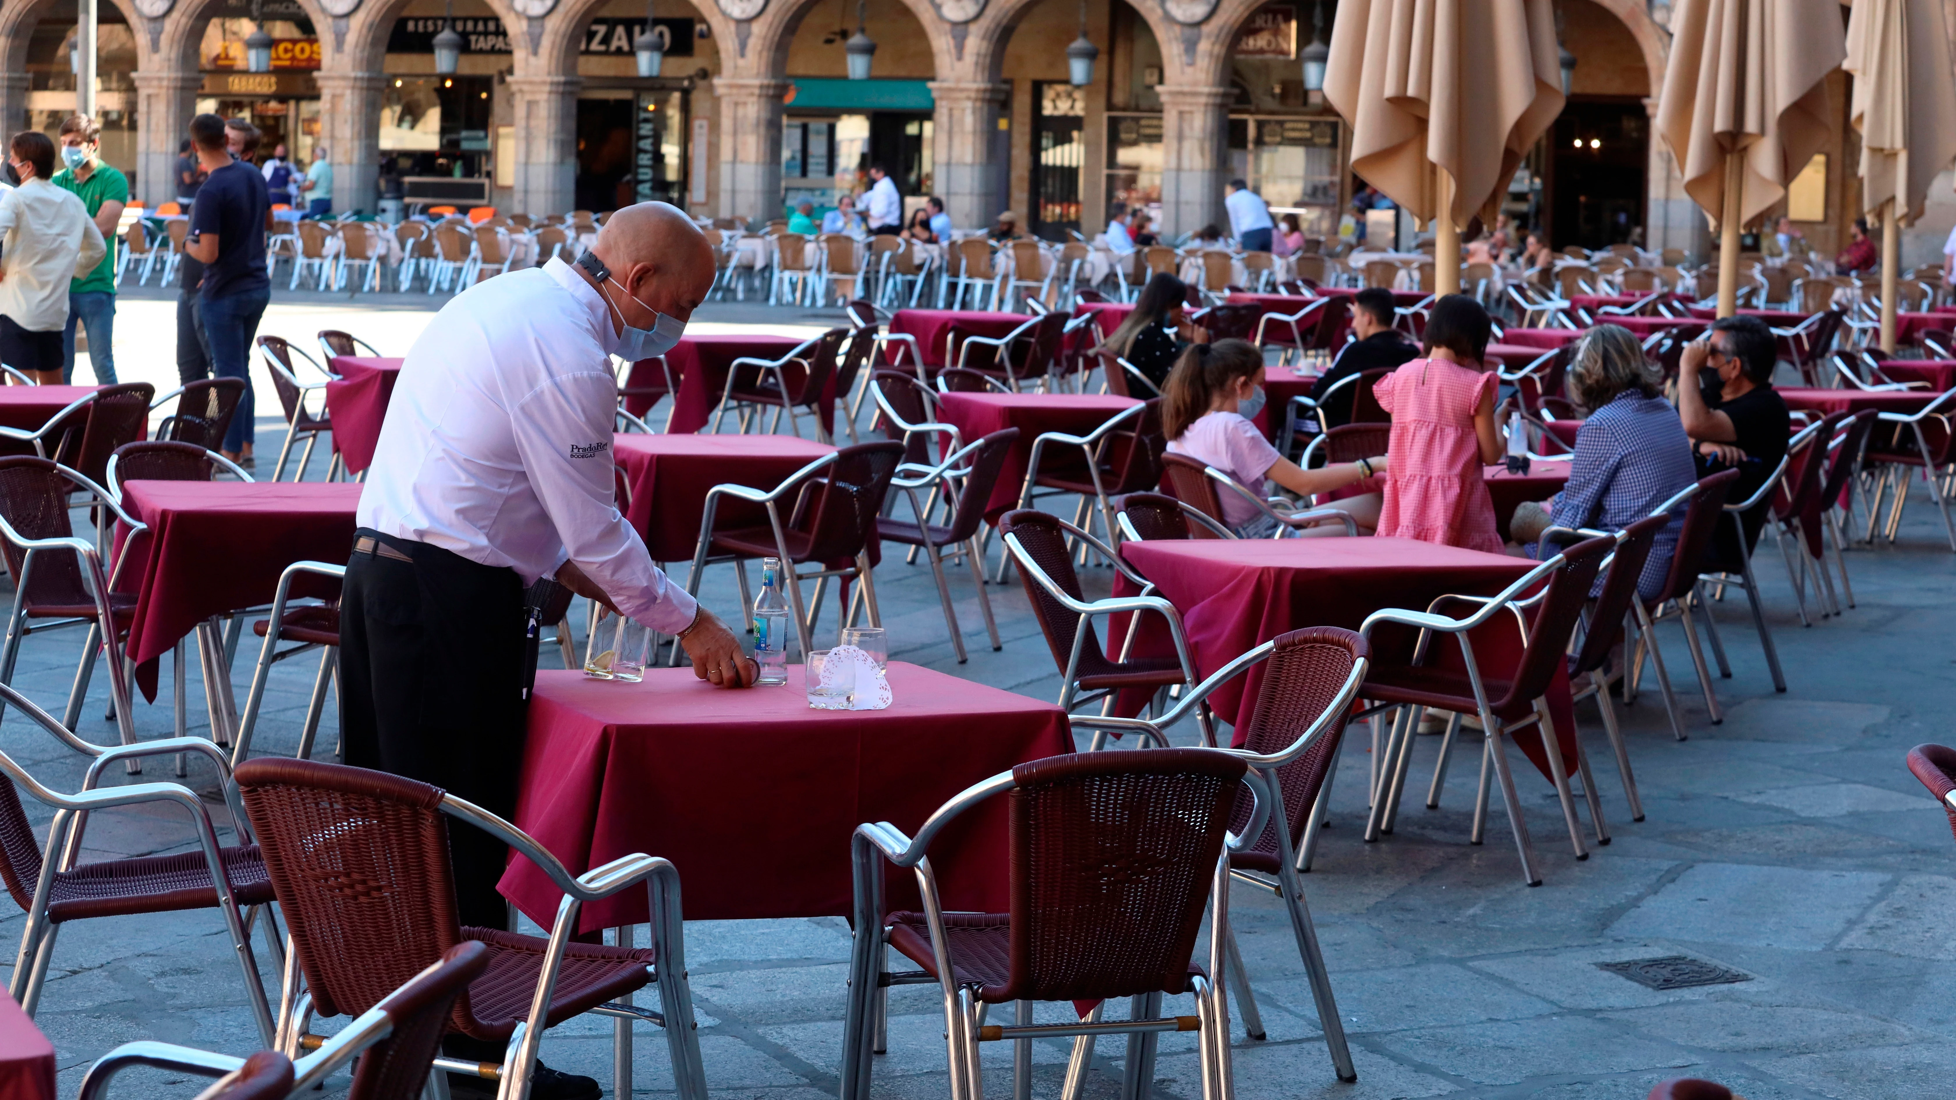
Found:
[(1426, 321), (1426, 354), (1379, 380), (1373, 395), (1393, 415), (1393, 472), (1379, 534), (1500, 554), (1494, 501), (1481, 468), (1500, 462), (1496, 376), (1481, 370), (1492, 333), (1473, 298), (1449, 294)]

